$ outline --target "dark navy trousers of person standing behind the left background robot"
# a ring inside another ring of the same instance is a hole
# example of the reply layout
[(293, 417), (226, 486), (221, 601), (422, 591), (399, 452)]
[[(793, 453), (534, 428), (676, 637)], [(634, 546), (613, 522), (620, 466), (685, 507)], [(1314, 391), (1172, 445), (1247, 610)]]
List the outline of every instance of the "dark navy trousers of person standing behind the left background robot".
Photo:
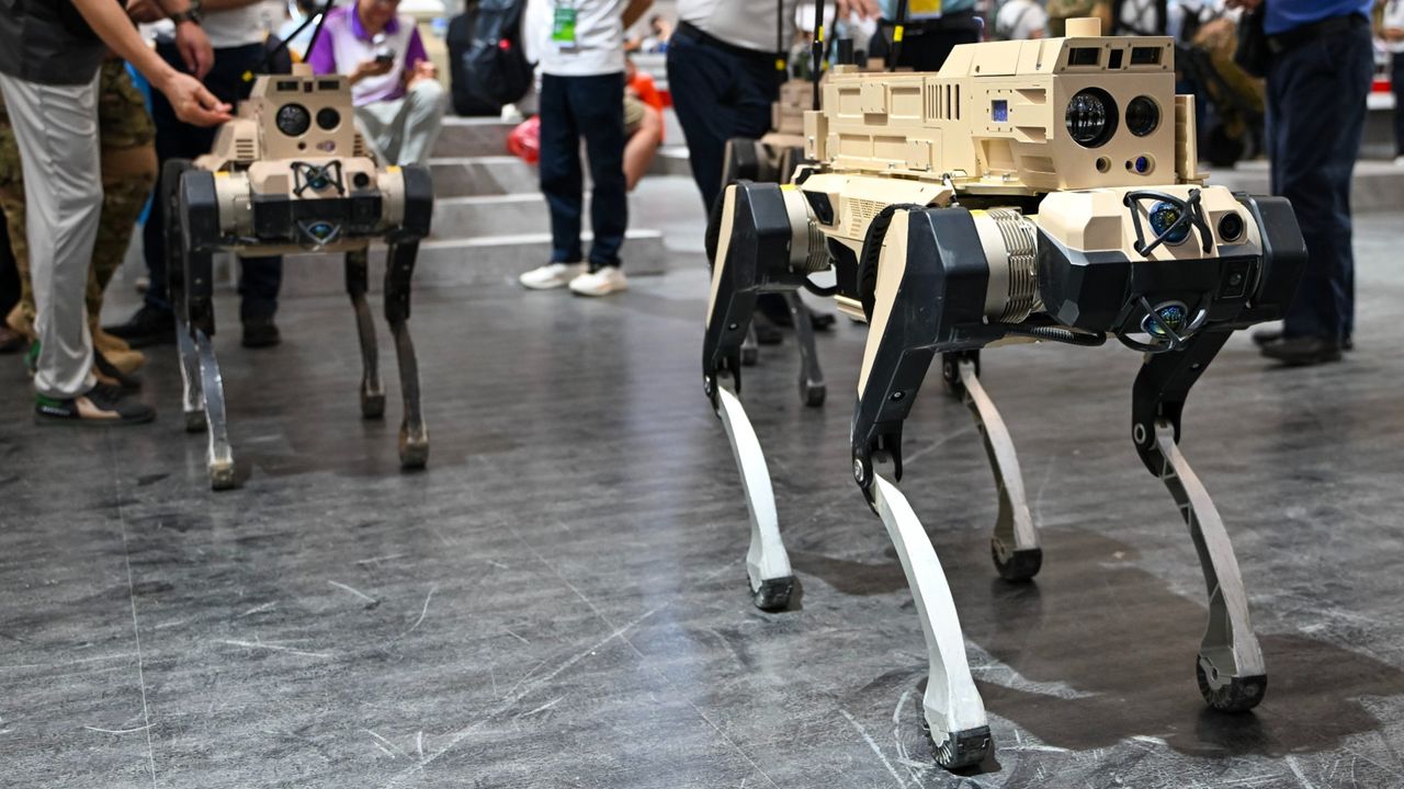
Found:
[[(185, 70), (185, 63), (174, 44), (160, 42), (156, 45), (156, 52), (176, 70)], [(227, 104), (249, 98), (253, 83), (246, 83), (243, 74), (250, 70), (261, 73), (263, 58), (263, 44), (216, 49), (215, 67), (205, 77), (205, 87)], [(215, 145), (215, 129), (202, 129), (181, 122), (176, 118), (170, 102), (157, 90), (152, 91), (152, 118), (156, 121), (156, 157), (163, 166), (167, 159), (204, 156)], [(146, 246), (146, 270), (152, 278), (152, 284), (146, 289), (146, 303), (170, 310), (170, 295), (166, 289), (166, 218), (159, 208), (159, 205), (154, 206), (147, 216), (142, 236)], [(243, 296), (239, 306), (240, 319), (272, 317), (278, 310), (278, 291), (282, 288), (282, 258), (246, 257), (240, 263), (243, 271), (239, 278), (239, 295)]]

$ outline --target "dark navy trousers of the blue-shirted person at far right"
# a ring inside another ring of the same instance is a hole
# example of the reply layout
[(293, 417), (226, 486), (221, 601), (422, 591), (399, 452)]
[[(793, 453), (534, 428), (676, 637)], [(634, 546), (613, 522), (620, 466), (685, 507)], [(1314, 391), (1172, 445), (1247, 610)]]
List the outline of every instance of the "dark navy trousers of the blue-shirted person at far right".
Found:
[(1365, 24), (1275, 55), (1268, 63), (1272, 192), (1292, 201), (1310, 256), (1287, 309), (1287, 337), (1339, 341), (1355, 327), (1351, 175), (1373, 69)]

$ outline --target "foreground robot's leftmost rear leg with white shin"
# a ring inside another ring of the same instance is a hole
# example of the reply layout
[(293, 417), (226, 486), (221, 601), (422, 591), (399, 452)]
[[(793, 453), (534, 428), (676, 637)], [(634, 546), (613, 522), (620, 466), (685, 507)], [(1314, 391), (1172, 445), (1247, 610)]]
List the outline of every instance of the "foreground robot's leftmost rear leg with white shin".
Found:
[[(765, 453), (737, 397), (741, 354), (755, 296), (795, 292), (827, 258), (823, 243), (810, 236), (803, 198), (778, 184), (727, 187), (717, 226), (702, 348), (703, 389), (726, 427), (746, 489), (751, 517), (746, 569), (753, 599), (764, 611), (778, 611), (789, 605), (795, 577), (779, 533)], [(722, 386), (722, 373), (730, 373), (736, 393)]]

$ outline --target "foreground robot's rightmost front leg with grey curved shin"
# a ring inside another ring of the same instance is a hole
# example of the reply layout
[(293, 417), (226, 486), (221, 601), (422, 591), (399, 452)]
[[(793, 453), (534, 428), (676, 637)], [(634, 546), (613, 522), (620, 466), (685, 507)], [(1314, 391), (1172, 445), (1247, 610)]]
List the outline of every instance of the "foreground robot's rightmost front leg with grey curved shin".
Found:
[(1262, 650), (1223, 518), (1178, 445), (1185, 397), (1228, 334), (1207, 331), (1181, 351), (1147, 358), (1136, 376), (1132, 438), (1146, 468), (1175, 497), (1209, 588), (1209, 626), (1195, 663), (1199, 691), (1213, 709), (1243, 712), (1258, 706), (1268, 687)]

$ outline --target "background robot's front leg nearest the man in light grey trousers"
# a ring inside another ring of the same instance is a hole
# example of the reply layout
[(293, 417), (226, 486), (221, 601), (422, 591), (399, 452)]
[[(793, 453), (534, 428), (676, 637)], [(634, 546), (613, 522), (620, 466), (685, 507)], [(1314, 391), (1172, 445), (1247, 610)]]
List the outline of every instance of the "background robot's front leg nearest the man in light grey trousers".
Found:
[[(205, 428), (208, 446), (205, 465), (209, 472), (209, 486), (215, 490), (234, 487), (234, 456), (229, 446), (229, 421), (225, 416), (225, 382), (215, 358), (211, 338), (215, 336), (213, 305), (213, 247), (218, 237), (218, 220), (209, 212), (192, 211), (194, 205), (211, 205), (215, 199), (213, 181), (208, 178), (184, 178), (190, 170), (185, 161), (168, 161), (163, 175), (167, 190), (167, 206), (177, 209), (176, 218), (167, 219), (167, 227), (178, 227), (180, 237), (170, 239), (167, 248), (178, 250), (180, 271), (173, 279), (176, 306), (176, 341), (181, 357), (181, 375), (185, 385), (185, 428)], [(174, 234), (174, 233), (173, 233)]]

